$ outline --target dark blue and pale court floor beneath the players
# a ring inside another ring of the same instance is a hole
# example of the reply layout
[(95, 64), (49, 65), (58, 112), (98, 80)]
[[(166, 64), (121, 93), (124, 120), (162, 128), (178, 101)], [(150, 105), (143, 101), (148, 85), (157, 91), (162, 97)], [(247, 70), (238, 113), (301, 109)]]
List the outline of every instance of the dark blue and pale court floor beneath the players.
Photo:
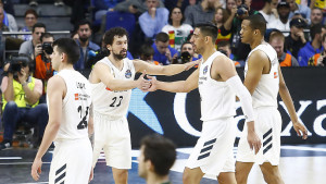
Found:
[[(42, 174), (40, 181), (35, 182), (30, 176), (30, 167), (36, 155), (36, 149), (22, 148), (0, 151), (0, 184), (46, 184), (52, 151), (43, 157)], [(189, 157), (191, 148), (179, 148), (177, 161), (171, 171), (173, 184), (181, 184), (181, 176), (185, 162)], [(237, 148), (235, 148), (235, 152)], [(129, 184), (145, 184), (145, 181), (137, 173), (138, 150), (133, 150), (133, 169), (129, 171)], [(286, 184), (326, 184), (326, 144), (323, 145), (286, 145), (281, 146), (280, 172)], [(92, 184), (113, 184), (112, 172), (105, 165), (103, 155), (95, 169)], [(264, 184), (263, 176), (258, 165), (249, 176), (248, 184)], [(205, 176), (201, 184), (217, 184), (214, 176)]]

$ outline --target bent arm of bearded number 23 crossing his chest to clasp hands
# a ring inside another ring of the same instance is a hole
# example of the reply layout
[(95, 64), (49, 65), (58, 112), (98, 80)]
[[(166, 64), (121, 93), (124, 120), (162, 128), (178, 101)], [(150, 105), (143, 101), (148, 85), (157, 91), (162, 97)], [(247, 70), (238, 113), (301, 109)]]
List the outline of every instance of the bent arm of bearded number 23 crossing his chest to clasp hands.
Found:
[(104, 83), (111, 90), (128, 90), (138, 87), (141, 90), (149, 88), (150, 82), (143, 78), (143, 73), (137, 81), (115, 79), (108, 65), (97, 63), (89, 76), (89, 82), (92, 84)]

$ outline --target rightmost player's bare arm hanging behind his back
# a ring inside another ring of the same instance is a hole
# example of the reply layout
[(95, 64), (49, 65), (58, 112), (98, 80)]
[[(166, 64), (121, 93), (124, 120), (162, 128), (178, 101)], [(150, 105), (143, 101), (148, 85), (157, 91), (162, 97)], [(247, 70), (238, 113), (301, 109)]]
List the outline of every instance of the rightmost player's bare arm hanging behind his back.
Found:
[(279, 75), (279, 96), (288, 109), (288, 112), (290, 114), (290, 118), (291, 118), (291, 121), (293, 124), (293, 128), (296, 130), (298, 136), (302, 136), (303, 139), (306, 139), (308, 138), (308, 130), (304, 126), (304, 124), (301, 123), (298, 119), (298, 115), (296, 113), (296, 109), (293, 106), (292, 97), (291, 97), (289, 89), (284, 81), (284, 77), (283, 77), (283, 74), (280, 71), (280, 66), (278, 66), (278, 75)]

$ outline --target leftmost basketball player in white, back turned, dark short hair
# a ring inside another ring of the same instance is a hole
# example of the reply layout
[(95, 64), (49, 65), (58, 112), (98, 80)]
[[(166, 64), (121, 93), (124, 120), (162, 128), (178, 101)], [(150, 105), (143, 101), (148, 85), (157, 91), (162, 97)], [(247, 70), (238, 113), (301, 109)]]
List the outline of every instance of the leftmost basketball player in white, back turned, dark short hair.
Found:
[(48, 83), (49, 123), (32, 165), (32, 176), (39, 180), (41, 158), (54, 140), (49, 183), (87, 184), (92, 177), (91, 145), (88, 138), (90, 115), (89, 82), (73, 64), (79, 59), (79, 48), (70, 38), (53, 42), (52, 66), (59, 73)]

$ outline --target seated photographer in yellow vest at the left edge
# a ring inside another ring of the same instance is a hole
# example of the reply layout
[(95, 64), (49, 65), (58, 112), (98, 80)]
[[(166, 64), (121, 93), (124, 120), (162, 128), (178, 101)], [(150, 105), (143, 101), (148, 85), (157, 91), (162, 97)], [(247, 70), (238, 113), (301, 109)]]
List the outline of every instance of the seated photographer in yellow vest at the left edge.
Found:
[(26, 54), (13, 57), (8, 76), (2, 78), (3, 142), (0, 150), (12, 147), (13, 134), (20, 122), (32, 123), (37, 128), (38, 143), (48, 123), (47, 105), (38, 105), (42, 94), (42, 82), (33, 76), (33, 61)]

